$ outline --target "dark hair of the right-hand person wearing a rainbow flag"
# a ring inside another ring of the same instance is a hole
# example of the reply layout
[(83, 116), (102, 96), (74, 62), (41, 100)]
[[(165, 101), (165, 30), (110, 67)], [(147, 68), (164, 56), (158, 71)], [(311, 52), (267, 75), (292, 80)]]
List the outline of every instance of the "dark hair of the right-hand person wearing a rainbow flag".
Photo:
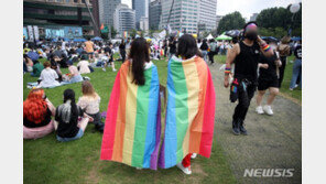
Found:
[(178, 39), (176, 55), (182, 56), (186, 59), (192, 58), (194, 55), (203, 57), (197, 47), (195, 37), (191, 34), (184, 34)]

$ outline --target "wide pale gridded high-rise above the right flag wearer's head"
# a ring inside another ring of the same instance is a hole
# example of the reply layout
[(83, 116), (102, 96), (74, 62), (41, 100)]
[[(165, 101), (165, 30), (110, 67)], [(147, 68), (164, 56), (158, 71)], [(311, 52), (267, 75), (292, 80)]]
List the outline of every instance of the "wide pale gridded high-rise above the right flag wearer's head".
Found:
[[(210, 31), (215, 26), (216, 0), (173, 0), (162, 1), (162, 18), (160, 28), (170, 24), (172, 30), (186, 33), (197, 33), (198, 23), (200, 29)], [(170, 13), (171, 12), (171, 13)], [(170, 20), (169, 20), (170, 17)]]

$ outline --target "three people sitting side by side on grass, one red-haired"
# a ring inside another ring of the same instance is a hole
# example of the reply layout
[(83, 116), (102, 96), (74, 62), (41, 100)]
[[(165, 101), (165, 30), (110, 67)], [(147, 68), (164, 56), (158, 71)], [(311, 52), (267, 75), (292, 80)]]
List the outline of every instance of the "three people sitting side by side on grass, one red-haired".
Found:
[(102, 132), (100, 97), (88, 80), (83, 82), (82, 91), (83, 96), (76, 104), (75, 91), (66, 89), (64, 104), (55, 108), (43, 89), (32, 89), (23, 102), (23, 138), (39, 139), (55, 130), (58, 141), (72, 141), (83, 137), (88, 122), (94, 122), (95, 128)]

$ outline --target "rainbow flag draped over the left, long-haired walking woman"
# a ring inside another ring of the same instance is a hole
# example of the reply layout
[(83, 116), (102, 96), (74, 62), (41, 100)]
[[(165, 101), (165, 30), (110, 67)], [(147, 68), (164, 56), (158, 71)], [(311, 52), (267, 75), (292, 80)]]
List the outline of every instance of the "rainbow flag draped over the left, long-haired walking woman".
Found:
[(101, 160), (157, 169), (161, 105), (157, 69), (145, 69), (145, 85), (132, 84), (130, 62), (121, 65), (108, 105)]

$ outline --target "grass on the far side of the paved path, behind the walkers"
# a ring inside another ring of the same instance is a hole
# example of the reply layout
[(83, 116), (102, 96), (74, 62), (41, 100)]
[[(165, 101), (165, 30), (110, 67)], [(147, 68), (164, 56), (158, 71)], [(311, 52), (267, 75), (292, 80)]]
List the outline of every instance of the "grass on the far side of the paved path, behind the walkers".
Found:
[[(226, 63), (226, 55), (216, 55), (215, 61), (217, 61), (218, 63), (225, 64)], [(294, 99), (295, 101), (297, 101), (298, 104), (302, 104), (302, 90), (298, 88), (296, 88), (292, 91), (289, 90), (291, 78), (292, 78), (292, 71), (293, 71), (293, 63), (291, 63), (290, 61), (294, 62), (294, 55), (287, 57), (287, 64), (285, 66), (284, 78), (283, 78), (283, 83), (282, 83), (282, 87), (281, 87), (280, 91), (281, 91), (281, 95), (283, 95), (285, 97), (290, 97), (290, 98)]]

